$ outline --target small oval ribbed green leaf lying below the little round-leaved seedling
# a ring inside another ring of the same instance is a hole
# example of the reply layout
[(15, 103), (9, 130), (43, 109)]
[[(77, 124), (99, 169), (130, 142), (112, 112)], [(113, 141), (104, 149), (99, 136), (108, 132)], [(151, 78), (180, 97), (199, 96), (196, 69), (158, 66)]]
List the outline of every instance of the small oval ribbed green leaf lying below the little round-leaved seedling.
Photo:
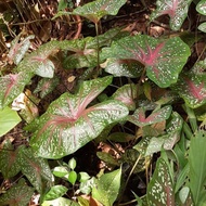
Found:
[(63, 185), (54, 185), (50, 191), (44, 195), (44, 201), (51, 201), (63, 196), (67, 192), (67, 188)]

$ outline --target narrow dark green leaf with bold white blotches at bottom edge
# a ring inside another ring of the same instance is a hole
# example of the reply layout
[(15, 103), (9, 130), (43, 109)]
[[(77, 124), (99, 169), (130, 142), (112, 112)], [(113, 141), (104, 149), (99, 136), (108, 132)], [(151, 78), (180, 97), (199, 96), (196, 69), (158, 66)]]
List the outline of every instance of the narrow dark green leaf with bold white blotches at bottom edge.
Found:
[(149, 206), (175, 206), (173, 183), (169, 166), (163, 158), (158, 158), (152, 180), (147, 185)]

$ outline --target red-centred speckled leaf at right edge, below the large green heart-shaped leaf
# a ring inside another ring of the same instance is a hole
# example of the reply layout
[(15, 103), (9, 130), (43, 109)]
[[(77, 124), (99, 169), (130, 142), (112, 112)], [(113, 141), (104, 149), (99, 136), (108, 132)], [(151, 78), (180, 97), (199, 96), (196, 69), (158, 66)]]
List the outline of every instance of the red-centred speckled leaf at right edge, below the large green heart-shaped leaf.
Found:
[(197, 108), (206, 103), (206, 61), (201, 61), (190, 73), (183, 73), (172, 88), (185, 103)]

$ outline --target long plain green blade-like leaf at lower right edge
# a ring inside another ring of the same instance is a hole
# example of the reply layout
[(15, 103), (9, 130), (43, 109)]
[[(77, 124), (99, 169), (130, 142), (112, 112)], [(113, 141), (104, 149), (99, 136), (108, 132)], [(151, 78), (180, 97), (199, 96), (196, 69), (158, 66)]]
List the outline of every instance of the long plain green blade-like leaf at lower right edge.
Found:
[(190, 190), (194, 205), (206, 204), (206, 137), (204, 131), (198, 131), (191, 140), (189, 150), (189, 179)]

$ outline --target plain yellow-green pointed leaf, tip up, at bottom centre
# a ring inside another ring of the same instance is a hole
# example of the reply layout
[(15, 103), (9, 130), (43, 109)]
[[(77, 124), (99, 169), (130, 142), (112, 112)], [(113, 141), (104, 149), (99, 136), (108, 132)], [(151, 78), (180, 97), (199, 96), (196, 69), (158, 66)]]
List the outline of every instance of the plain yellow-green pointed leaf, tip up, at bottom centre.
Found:
[(96, 181), (96, 186), (92, 188), (92, 197), (104, 206), (113, 206), (119, 193), (120, 179), (121, 168), (102, 175)]

